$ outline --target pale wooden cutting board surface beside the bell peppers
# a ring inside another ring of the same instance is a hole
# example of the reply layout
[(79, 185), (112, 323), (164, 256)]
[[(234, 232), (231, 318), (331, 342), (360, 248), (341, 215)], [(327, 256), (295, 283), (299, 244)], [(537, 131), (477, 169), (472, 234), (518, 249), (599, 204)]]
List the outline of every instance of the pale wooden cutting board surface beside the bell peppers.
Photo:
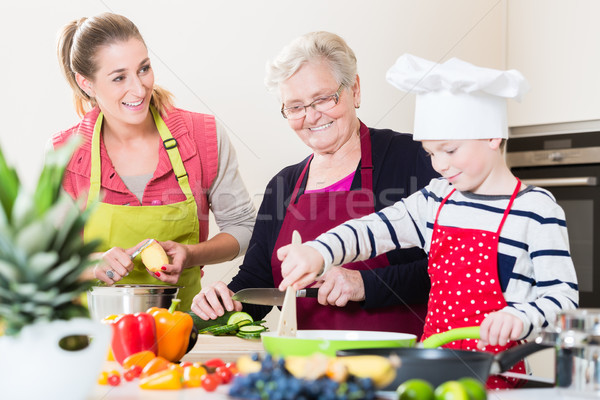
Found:
[(236, 361), (243, 355), (264, 354), (260, 339), (242, 339), (236, 336), (198, 335), (198, 341), (182, 361), (203, 362), (220, 358), (225, 362)]

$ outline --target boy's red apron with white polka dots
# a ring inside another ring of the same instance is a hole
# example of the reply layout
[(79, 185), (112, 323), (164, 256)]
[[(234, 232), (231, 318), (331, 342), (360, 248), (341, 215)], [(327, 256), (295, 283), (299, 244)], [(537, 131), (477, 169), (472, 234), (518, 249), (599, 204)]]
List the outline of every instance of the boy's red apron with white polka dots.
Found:
[[(431, 292), (423, 339), (454, 328), (479, 326), (489, 313), (506, 307), (498, 279), (498, 241), (520, 187), (521, 182), (517, 179), (496, 232), (438, 224), (442, 207), (456, 189), (440, 204), (429, 251)], [(487, 346), (484, 351), (498, 353), (517, 345), (517, 342), (509, 342), (505, 346)], [(443, 347), (476, 351), (477, 340), (459, 340)], [(525, 363), (520, 361), (510, 371), (525, 373)], [(499, 375), (490, 376), (487, 381), (490, 389), (513, 388), (521, 384), (520, 379)]]

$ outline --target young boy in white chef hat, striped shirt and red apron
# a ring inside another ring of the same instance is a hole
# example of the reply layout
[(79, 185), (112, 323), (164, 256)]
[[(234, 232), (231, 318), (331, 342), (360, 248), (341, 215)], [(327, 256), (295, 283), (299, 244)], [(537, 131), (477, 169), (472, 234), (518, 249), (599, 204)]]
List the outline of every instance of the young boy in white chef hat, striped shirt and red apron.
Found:
[[(505, 98), (527, 89), (522, 75), (404, 55), (387, 78), (417, 93), (414, 139), (442, 178), (381, 212), (279, 249), (279, 288), (304, 287), (331, 265), (420, 246), (431, 278), (424, 338), (480, 325), (480, 340), (448, 347), (498, 352), (576, 308), (564, 212), (550, 192), (522, 184), (502, 154)], [(513, 386), (494, 379), (490, 387)]]

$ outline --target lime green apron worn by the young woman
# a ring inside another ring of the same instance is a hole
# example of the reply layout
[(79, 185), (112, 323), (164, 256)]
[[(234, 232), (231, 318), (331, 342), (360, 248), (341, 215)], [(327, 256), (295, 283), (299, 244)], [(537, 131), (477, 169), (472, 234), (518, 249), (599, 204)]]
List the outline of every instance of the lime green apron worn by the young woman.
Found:
[[(154, 122), (163, 143), (173, 139), (171, 132), (151, 107)], [(94, 203), (100, 194), (100, 135), (103, 114), (98, 115), (92, 135), (90, 190), (87, 206)], [(99, 202), (90, 216), (84, 229), (84, 241), (100, 239), (99, 251), (107, 251), (112, 247), (129, 248), (146, 238), (158, 241), (173, 240), (181, 244), (197, 244), (199, 241), (199, 222), (196, 201), (190, 188), (181, 155), (173, 140), (167, 142), (167, 153), (173, 166), (175, 176), (179, 177), (179, 187), (186, 199), (179, 203), (158, 206), (127, 206)], [(152, 276), (142, 264), (140, 257), (134, 260), (135, 268), (119, 284), (152, 284), (168, 285)], [(189, 310), (192, 299), (200, 291), (200, 267), (186, 268), (182, 271), (178, 286), (178, 297), (181, 299), (180, 310)]]

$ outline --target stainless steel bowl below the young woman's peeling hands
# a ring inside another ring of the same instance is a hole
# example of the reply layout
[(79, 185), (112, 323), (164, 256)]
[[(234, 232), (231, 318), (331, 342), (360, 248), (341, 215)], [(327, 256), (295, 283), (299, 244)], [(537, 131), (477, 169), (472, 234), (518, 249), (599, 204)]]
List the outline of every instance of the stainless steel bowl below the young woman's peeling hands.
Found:
[(97, 321), (113, 314), (144, 312), (150, 307), (169, 308), (179, 289), (166, 285), (94, 286), (87, 292), (88, 308)]

